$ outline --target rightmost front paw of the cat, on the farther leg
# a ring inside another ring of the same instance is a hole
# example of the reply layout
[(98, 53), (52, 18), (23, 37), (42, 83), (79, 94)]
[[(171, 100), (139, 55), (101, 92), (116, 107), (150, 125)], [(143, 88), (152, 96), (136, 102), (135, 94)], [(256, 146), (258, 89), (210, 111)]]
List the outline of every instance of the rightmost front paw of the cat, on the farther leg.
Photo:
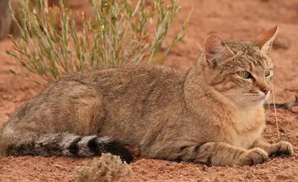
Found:
[(270, 157), (274, 156), (283, 156), (283, 155), (293, 155), (293, 147), (290, 143), (287, 141), (280, 141), (277, 144), (273, 144), (272, 147), (270, 147)]

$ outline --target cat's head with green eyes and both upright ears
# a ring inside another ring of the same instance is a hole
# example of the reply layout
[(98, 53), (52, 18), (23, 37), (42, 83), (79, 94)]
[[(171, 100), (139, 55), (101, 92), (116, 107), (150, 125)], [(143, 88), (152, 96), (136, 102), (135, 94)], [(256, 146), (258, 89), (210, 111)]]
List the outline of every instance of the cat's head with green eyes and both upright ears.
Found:
[(278, 27), (249, 41), (224, 41), (218, 34), (204, 42), (204, 76), (209, 85), (237, 105), (263, 104), (270, 95), (273, 62), (269, 54)]

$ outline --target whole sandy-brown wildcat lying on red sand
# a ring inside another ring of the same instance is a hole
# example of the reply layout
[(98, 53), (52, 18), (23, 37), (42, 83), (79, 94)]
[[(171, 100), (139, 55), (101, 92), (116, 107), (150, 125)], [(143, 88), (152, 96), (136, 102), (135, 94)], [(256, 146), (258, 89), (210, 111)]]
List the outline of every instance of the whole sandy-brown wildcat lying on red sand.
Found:
[(4, 155), (132, 155), (214, 166), (254, 165), (292, 155), (291, 144), (268, 144), (263, 103), (278, 27), (251, 41), (217, 34), (185, 74), (153, 65), (126, 65), (58, 79), (17, 109), (4, 126)]

